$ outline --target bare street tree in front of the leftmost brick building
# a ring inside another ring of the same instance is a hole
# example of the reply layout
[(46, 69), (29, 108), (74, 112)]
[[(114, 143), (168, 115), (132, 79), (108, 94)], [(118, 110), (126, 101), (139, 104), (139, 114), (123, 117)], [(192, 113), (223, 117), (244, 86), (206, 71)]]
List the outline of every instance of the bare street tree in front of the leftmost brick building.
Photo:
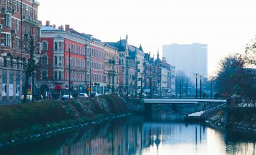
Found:
[[(24, 97), (22, 102), (27, 102), (27, 93), (29, 90), (29, 79), (30, 78), (32, 79), (32, 87), (33, 87), (33, 84), (34, 84), (33, 81), (35, 79), (34, 76), (36, 72), (38, 73), (39, 71), (39, 74), (40, 74), (40, 71), (44, 71), (44, 69), (47, 70), (49, 68), (49, 64), (44, 63), (45, 61), (42, 59), (42, 56), (44, 55), (44, 53), (41, 54), (40, 50), (41, 49), (40, 49), (39, 38), (36, 38), (33, 35), (26, 34), (23, 36), (21, 41), (22, 54), (20, 58), (16, 58), (16, 61), (13, 61), (13, 56), (9, 53), (7, 54), (7, 56), (4, 57), (4, 60), (2, 61), (2, 65), (0, 65), (1, 66), (0, 69), (2, 68), (10, 69), (10, 68), (13, 68), (14, 65), (17, 65), (17, 68), (19, 68), (20, 74), (19, 74), (19, 77), (16, 77), (16, 79), (19, 79), (21, 76), (24, 76), (24, 79), (25, 79), (24, 90), (23, 90)], [(34, 87), (32, 88), (32, 90), (33, 89)]]

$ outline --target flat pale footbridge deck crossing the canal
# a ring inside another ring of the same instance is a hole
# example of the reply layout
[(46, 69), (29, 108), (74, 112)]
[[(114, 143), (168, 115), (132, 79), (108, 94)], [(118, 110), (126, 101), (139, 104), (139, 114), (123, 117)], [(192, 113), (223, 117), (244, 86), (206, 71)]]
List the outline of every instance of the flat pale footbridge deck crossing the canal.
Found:
[(226, 99), (144, 99), (144, 104), (200, 104), (201, 102), (211, 102), (224, 104)]

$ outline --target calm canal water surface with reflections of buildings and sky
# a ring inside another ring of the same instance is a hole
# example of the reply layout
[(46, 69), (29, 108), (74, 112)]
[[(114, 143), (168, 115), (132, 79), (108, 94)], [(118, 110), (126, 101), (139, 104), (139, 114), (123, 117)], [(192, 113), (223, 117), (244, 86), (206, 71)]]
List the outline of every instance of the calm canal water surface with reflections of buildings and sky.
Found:
[(256, 154), (254, 134), (185, 123), (183, 116), (169, 110), (154, 111), (150, 118), (129, 116), (0, 148), (0, 154)]

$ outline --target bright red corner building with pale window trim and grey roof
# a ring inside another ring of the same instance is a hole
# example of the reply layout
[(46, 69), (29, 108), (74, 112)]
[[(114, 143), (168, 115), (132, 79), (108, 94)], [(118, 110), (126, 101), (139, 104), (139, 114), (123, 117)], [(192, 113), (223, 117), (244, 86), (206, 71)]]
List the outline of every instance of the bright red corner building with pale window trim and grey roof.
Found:
[(83, 36), (72, 33), (69, 25), (66, 25), (66, 30), (64, 30), (62, 26), (56, 28), (55, 25), (52, 26), (47, 21), (46, 25), (41, 28), (41, 42), (41, 62), (48, 66), (48, 68), (41, 68), (38, 71), (38, 88), (41, 94), (45, 97), (49, 96), (48, 89), (52, 96), (67, 94), (69, 78), (71, 78), (73, 91), (86, 90), (87, 40)]

